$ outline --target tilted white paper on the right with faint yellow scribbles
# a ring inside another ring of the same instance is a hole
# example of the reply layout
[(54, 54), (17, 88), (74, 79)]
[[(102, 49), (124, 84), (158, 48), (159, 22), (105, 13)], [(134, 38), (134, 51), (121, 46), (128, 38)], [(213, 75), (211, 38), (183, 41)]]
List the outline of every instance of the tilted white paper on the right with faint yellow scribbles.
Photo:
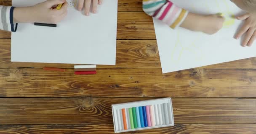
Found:
[(232, 18), (232, 15), (243, 11), (230, 0), (171, 1), (191, 13), (224, 13), (226, 21), (218, 33), (207, 35), (181, 27), (173, 30), (154, 19), (163, 73), (256, 57), (255, 42), (252, 47), (242, 47), (241, 39), (233, 38), (242, 21)]

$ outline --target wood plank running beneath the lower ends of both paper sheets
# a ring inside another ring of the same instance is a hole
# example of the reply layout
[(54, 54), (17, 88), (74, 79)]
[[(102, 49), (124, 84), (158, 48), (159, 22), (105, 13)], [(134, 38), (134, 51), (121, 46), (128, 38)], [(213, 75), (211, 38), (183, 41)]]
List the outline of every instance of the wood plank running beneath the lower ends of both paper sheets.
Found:
[[(97, 68), (161, 68), (155, 40), (117, 40), (116, 66)], [(74, 64), (11, 62), (11, 40), (0, 39), (0, 68), (74, 68)], [(254, 68), (256, 57), (198, 68)]]

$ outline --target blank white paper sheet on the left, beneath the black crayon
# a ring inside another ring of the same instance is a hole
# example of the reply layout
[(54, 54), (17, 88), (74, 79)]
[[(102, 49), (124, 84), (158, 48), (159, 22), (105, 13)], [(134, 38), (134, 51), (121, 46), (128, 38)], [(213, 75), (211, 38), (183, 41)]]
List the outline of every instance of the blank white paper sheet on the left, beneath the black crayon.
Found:
[[(30, 6), (46, 0), (12, 0)], [(19, 23), (11, 36), (12, 62), (115, 65), (117, 0), (104, 0), (98, 13), (86, 17), (68, 0), (67, 17), (57, 28)]]

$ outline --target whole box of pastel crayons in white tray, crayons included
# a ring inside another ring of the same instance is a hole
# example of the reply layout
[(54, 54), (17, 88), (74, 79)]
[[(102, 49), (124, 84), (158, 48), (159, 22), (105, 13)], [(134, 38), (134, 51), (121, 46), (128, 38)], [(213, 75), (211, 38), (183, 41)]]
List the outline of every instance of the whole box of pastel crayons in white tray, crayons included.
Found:
[(174, 126), (171, 98), (112, 105), (115, 133)]

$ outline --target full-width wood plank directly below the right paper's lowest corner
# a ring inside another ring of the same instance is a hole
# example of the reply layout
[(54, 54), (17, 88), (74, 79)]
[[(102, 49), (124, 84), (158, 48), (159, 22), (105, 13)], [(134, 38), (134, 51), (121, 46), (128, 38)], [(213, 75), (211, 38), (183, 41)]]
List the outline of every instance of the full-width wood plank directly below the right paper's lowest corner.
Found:
[(74, 75), (43, 69), (0, 69), (0, 97), (255, 97), (256, 70), (98, 69)]

